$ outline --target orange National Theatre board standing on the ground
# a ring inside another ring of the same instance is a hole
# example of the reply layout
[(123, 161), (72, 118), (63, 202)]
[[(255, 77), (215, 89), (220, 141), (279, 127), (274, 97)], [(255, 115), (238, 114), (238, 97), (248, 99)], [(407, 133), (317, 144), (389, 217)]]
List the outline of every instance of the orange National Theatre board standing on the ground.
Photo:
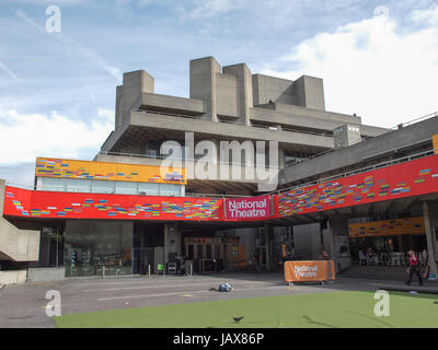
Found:
[(333, 260), (286, 261), (285, 281), (292, 282), (323, 282), (335, 279)]

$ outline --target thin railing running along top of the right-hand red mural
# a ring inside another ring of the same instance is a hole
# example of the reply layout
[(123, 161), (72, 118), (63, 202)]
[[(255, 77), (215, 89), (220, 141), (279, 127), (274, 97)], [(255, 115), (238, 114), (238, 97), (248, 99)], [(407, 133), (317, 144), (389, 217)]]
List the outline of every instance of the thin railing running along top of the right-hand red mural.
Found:
[(291, 186), (291, 187), (284, 188), (284, 189), (277, 189), (277, 190), (274, 190), (272, 192), (268, 192), (267, 195), (283, 194), (283, 192), (287, 192), (287, 191), (292, 190), (292, 189), (299, 189), (299, 188), (304, 188), (304, 187), (309, 187), (309, 186), (313, 186), (313, 185), (320, 185), (320, 184), (326, 183), (328, 180), (334, 180), (334, 179), (338, 179), (338, 178), (343, 178), (343, 177), (347, 177), (347, 176), (353, 176), (353, 175), (357, 175), (357, 174), (374, 171), (377, 168), (388, 167), (388, 166), (391, 166), (391, 165), (410, 162), (410, 161), (413, 161), (413, 160), (416, 160), (416, 159), (419, 159), (419, 158), (429, 156), (429, 155), (435, 154), (436, 152), (438, 152), (438, 149), (424, 151), (424, 152), (415, 153), (415, 154), (411, 154), (411, 155), (401, 156), (401, 158), (395, 159), (395, 160), (382, 162), (382, 163), (379, 163), (379, 164), (376, 164), (376, 165), (361, 167), (361, 168), (358, 168), (358, 170), (355, 170), (355, 171), (345, 172), (345, 173), (333, 175), (333, 176), (328, 176), (328, 177), (319, 178), (316, 180), (309, 182), (309, 183), (306, 183), (306, 184), (300, 184), (300, 185)]

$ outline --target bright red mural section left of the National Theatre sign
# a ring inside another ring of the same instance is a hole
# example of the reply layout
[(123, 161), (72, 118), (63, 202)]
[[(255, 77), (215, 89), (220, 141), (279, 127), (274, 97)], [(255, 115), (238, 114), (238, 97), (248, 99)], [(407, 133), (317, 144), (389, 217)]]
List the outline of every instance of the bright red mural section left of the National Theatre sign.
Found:
[(30, 218), (223, 220), (222, 199), (27, 190), (5, 187), (4, 214)]

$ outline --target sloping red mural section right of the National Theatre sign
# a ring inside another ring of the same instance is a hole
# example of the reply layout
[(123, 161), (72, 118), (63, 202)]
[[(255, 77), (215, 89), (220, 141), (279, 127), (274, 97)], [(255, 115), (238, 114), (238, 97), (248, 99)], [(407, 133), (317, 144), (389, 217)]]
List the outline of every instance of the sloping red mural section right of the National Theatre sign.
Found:
[(438, 191), (438, 155), (274, 196), (276, 217), (307, 214)]

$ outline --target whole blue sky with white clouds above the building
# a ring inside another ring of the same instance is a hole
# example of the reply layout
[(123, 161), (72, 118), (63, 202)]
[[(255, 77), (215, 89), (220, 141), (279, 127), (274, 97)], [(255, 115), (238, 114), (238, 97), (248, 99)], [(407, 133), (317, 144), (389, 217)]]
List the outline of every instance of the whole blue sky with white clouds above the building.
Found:
[[(47, 33), (58, 5), (61, 32)], [(188, 61), (324, 79), (328, 110), (392, 127), (438, 110), (437, 1), (2, 0), (0, 178), (31, 184), (35, 156), (92, 159), (123, 72), (188, 97)]]

